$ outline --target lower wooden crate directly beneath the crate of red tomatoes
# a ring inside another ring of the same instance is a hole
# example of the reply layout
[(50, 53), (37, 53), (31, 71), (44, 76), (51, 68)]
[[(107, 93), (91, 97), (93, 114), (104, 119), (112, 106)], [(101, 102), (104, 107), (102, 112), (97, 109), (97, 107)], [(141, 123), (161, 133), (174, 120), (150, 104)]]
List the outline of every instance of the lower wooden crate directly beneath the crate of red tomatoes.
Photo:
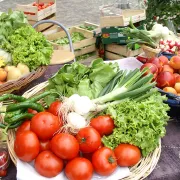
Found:
[[(48, 16), (47, 18), (45, 18), (45, 19), (43, 19), (43, 20), (56, 20), (56, 14), (52, 14), (51, 16)], [(29, 22), (29, 24), (31, 24), (32, 26), (37, 23), (37, 21), (32, 21), (32, 20), (29, 20), (28, 22)], [(53, 24), (51, 24), (51, 23), (44, 23), (44, 24), (38, 25), (35, 29), (36, 29), (38, 32), (43, 32), (43, 31), (48, 30), (48, 29), (51, 28), (52, 26), (53, 26)]]

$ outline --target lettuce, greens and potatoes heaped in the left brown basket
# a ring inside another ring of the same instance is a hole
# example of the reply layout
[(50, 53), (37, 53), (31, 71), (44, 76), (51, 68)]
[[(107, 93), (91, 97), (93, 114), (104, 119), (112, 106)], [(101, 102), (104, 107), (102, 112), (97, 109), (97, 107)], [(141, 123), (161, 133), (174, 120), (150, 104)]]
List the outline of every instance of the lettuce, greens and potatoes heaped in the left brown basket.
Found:
[(52, 45), (28, 24), (23, 12), (2, 13), (0, 26), (0, 84), (50, 64)]

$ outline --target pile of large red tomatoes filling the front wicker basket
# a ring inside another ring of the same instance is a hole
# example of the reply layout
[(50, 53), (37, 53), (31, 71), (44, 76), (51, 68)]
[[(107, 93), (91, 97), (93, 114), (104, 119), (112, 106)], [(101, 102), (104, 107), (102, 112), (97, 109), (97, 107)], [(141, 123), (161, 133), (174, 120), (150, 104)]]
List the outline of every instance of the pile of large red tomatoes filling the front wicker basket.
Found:
[(69, 180), (90, 180), (93, 172), (112, 174), (117, 166), (133, 166), (141, 158), (138, 147), (120, 144), (114, 150), (103, 147), (101, 137), (113, 132), (114, 121), (108, 115), (91, 120), (90, 126), (76, 135), (63, 133), (63, 122), (57, 111), (60, 101), (45, 112), (35, 114), (16, 131), (14, 151), (25, 162), (34, 160), (35, 170), (44, 177), (55, 177), (63, 170)]

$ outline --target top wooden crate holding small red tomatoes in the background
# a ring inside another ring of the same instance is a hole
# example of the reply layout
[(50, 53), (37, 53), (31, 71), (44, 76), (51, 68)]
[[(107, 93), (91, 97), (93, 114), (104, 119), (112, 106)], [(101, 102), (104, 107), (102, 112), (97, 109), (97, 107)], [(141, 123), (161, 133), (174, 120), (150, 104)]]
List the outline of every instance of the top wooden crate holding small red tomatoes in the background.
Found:
[(54, 4), (40, 11), (38, 11), (38, 8), (36, 6), (33, 6), (33, 3), (27, 5), (17, 4), (16, 9), (19, 11), (23, 11), (27, 15), (27, 19), (32, 21), (40, 21), (56, 13), (55, 0), (41, 0), (39, 2), (44, 2), (44, 3), (54, 2)]

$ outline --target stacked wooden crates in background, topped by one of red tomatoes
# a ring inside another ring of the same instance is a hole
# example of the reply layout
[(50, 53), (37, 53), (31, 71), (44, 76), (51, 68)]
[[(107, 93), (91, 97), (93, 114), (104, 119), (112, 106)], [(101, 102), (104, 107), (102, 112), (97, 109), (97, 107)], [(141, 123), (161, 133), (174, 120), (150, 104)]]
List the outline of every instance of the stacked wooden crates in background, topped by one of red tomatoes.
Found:
[[(37, 6), (37, 5), (41, 6)], [(56, 1), (55, 0), (36, 0), (27, 5), (17, 5), (17, 10), (26, 14), (29, 24), (32, 26), (41, 20), (56, 20)], [(45, 23), (36, 27), (36, 30), (43, 32), (53, 28), (53, 24)]]

